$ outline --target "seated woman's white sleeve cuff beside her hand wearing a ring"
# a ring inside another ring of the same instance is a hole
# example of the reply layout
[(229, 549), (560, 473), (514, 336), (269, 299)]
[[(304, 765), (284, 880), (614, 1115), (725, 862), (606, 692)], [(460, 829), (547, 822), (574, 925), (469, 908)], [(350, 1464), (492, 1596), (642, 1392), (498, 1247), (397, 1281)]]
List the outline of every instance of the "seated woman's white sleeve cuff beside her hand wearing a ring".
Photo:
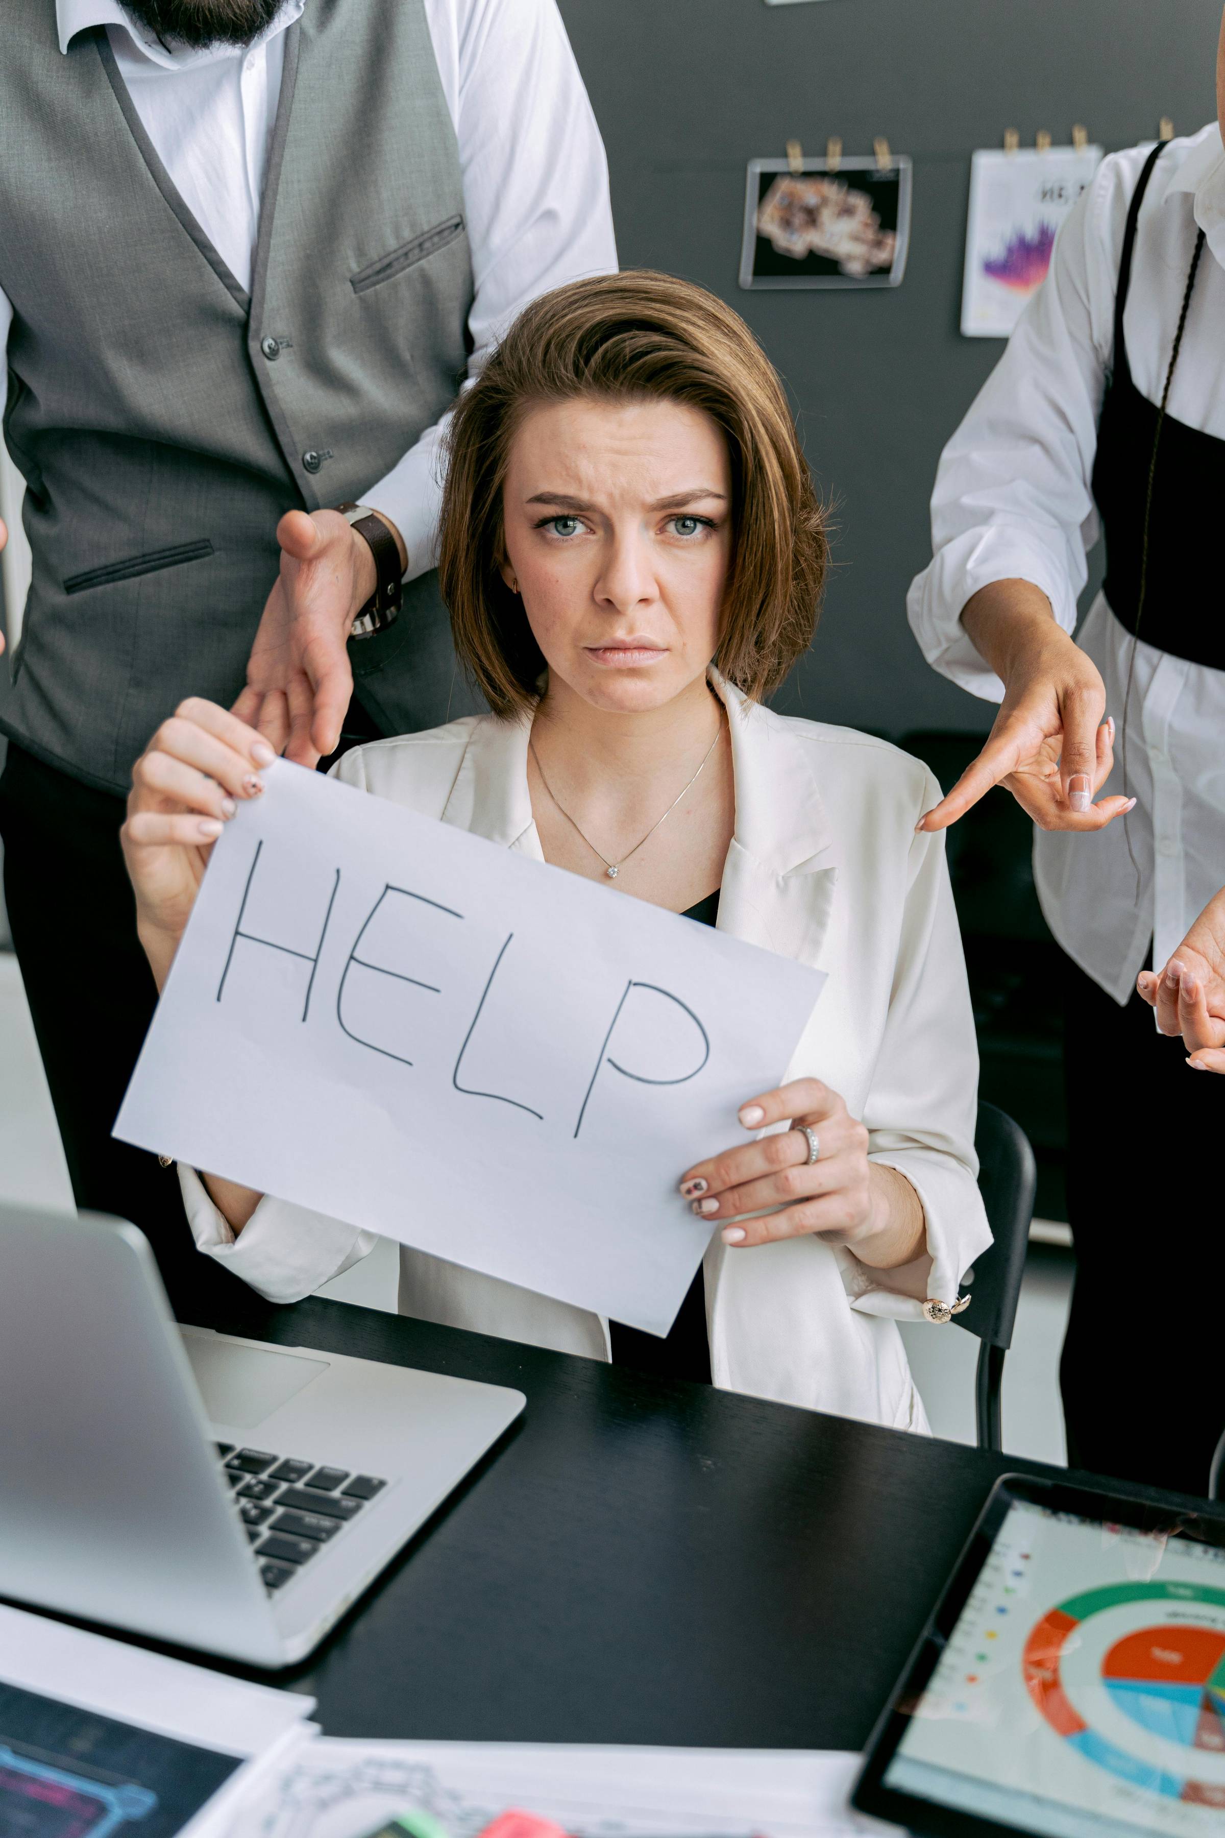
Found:
[[(953, 1303), (961, 1294), (961, 1279), (992, 1244), (983, 1197), (968, 1167), (929, 1149), (900, 1149), (874, 1154), (876, 1167), (893, 1167), (909, 1180), (918, 1195), (927, 1222), (927, 1299)], [(924, 1305), (916, 1296), (904, 1296), (889, 1287), (889, 1270), (861, 1265), (854, 1252), (836, 1252), (843, 1287), (852, 1309), (861, 1314), (883, 1314), (894, 1322), (924, 1322)]]

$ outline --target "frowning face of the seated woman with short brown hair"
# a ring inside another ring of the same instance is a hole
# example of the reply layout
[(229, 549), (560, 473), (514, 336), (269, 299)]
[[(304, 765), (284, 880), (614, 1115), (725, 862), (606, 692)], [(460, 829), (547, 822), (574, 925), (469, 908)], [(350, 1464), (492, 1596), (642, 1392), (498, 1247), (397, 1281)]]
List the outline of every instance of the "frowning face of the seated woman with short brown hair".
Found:
[(531, 410), (503, 516), (503, 577), (553, 686), (635, 713), (703, 676), (731, 559), (731, 465), (707, 414), (595, 397)]

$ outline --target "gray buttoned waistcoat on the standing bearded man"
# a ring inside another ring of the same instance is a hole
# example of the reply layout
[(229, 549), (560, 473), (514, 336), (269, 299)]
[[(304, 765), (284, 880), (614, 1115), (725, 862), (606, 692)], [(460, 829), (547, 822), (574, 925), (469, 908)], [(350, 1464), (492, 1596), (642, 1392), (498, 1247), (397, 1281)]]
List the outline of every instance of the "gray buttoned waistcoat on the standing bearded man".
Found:
[[(33, 586), (0, 726), (96, 785), (185, 695), (230, 704), (277, 518), (362, 498), (446, 410), (472, 270), (421, 0), (309, 0), (285, 46), (252, 294), (178, 197), (105, 33), (4, 0), (6, 439)], [(472, 704), (433, 573), (351, 649), (388, 730)]]

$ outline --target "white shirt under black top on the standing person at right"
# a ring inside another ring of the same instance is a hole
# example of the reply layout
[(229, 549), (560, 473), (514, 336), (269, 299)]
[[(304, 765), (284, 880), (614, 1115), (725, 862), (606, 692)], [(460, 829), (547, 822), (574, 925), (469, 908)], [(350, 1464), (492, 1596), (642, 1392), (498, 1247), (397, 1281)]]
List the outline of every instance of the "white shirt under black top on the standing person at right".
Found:
[[(1091, 496), (1096, 425), (1113, 362), (1115, 287), (1128, 206), (1148, 147), (1102, 162), (1054, 246), (1051, 274), (1008, 349), (944, 448), (931, 500), (935, 561), (909, 592), (929, 664), (973, 695), (1003, 684), (961, 625), (992, 581), (1032, 581), (1065, 630), (1076, 623), (1085, 551), (1098, 539)], [(1124, 314), (1137, 390), (1159, 403), (1196, 226), (1207, 235), (1168, 412), (1225, 439), (1225, 151), (1216, 123), (1161, 154), (1141, 210)], [(1203, 531), (1205, 544), (1216, 540)], [(1205, 619), (1219, 618), (1216, 605)], [(1098, 596), (1078, 634), (1102, 671), (1122, 735), (1131, 638)], [(1164, 963), (1225, 884), (1225, 671), (1141, 641), (1128, 708), (1126, 820), (1078, 836), (1040, 833), (1034, 873), (1060, 945), (1117, 1002), (1135, 989), (1150, 937)], [(1122, 743), (1100, 796), (1122, 792)], [(1139, 866), (1131, 866), (1128, 838)]]

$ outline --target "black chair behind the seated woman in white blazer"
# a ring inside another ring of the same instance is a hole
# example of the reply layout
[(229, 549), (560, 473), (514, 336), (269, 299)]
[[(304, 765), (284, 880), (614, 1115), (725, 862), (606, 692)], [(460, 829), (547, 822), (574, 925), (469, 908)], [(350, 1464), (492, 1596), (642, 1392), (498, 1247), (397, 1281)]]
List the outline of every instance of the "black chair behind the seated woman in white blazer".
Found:
[(979, 1105), (973, 1147), (979, 1152), (979, 1193), (995, 1242), (975, 1259), (970, 1307), (955, 1314), (953, 1323), (983, 1342), (975, 1378), (979, 1448), (999, 1454), (999, 1390), (1021, 1299), (1038, 1167), (1021, 1125), (995, 1105)]

